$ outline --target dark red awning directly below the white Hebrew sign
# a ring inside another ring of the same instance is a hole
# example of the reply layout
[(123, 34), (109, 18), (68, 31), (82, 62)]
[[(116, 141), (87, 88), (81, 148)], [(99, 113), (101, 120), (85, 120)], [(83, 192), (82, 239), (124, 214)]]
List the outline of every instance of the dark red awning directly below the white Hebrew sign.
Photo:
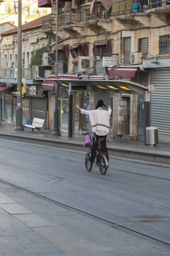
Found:
[(120, 67), (117, 70), (108, 70), (108, 76), (135, 77), (138, 67)]

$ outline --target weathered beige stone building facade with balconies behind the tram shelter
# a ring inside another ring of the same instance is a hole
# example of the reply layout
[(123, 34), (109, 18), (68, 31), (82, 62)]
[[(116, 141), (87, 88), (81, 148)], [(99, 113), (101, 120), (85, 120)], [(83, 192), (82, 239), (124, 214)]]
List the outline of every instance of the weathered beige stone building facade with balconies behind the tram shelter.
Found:
[[(87, 71), (90, 75), (108, 75), (109, 79), (130, 80), (145, 86), (153, 84), (150, 125), (159, 127), (162, 140), (170, 140), (169, 1), (113, 0), (111, 8), (110, 2), (108, 6), (105, 2), (63, 1), (59, 2), (57, 22), (55, 6), (50, 15), (42, 17), (40, 30), (51, 41), (55, 41), (58, 25), (59, 75), (77, 76), (78, 57), (90, 56), (94, 57), (94, 69)], [(51, 46), (54, 50), (55, 44)], [(102, 67), (106, 56), (116, 57), (116, 66)], [(115, 91), (111, 98), (112, 134), (142, 137), (144, 96), (124, 92)]]

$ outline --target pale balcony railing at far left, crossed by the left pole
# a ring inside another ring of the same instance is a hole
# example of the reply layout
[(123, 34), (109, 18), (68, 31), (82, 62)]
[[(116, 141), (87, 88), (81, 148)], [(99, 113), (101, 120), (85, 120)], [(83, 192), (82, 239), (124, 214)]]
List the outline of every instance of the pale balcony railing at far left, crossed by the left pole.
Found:
[[(1, 68), (0, 76), (2, 79), (16, 79), (17, 72), (15, 68)], [(22, 68), (23, 79), (33, 79), (33, 69)]]

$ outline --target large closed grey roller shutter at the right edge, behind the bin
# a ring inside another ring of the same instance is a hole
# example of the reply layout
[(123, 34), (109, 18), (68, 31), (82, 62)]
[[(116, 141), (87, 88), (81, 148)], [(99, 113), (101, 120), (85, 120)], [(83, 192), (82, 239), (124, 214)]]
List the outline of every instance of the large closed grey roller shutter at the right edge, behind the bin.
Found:
[(170, 69), (153, 69), (151, 84), (150, 125), (158, 126), (159, 139), (170, 140)]

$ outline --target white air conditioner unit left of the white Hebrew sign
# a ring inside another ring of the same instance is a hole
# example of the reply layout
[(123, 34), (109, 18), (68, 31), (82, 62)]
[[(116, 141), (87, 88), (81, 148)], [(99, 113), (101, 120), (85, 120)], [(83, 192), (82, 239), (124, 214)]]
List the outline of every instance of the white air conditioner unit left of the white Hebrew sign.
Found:
[(94, 71), (94, 57), (79, 56), (77, 64), (77, 72), (93, 72)]

